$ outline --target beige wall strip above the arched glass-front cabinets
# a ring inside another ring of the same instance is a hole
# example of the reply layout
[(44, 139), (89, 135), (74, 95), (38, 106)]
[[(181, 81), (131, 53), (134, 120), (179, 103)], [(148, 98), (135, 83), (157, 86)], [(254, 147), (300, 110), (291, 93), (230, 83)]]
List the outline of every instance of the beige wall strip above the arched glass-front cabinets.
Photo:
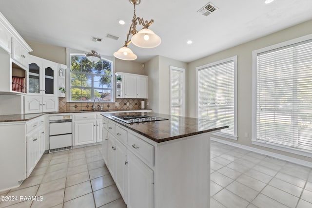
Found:
[(66, 65), (66, 48), (34, 41), (26, 41), (33, 49), (29, 54)]

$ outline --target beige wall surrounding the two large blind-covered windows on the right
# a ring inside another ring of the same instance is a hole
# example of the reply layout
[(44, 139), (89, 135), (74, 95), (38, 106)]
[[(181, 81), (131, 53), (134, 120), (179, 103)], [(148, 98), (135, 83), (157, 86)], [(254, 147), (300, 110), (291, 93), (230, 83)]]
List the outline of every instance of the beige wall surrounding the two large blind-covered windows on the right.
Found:
[[(254, 148), (263, 149), (266, 151), (273, 151), (280, 154), (285, 154), (299, 159), (312, 161), (312, 158), (299, 156), (296, 154), (286, 153), (283, 151), (275, 151), (269, 148), (252, 145), (252, 51), (276, 43), (280, 43), (293, 38), (298, 38), (312, 33), (312, 20), (295, 25), (285, 30), (273, 33), (269, 36), (258, 38), (245, 44), (238, 45), (225, 51), (221, 51), (214, 55), (204, 57), (189, 63), (187, 72), (187, 115), (191, 117), (196, 116), (195, 100), (196, 100), (196, 71), (195, 67), (202, 66), (214, 61), (222, 60), (224, 58), (238, 56), (238, 140), (233, 141), (242, 145), (251, 146)], [(245, 132), (248, 137), (244, 137)]]

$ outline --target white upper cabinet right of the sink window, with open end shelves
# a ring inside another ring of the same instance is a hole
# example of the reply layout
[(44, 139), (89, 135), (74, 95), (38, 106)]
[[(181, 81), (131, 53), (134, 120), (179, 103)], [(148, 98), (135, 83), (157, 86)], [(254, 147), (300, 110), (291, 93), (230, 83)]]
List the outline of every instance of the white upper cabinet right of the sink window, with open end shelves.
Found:
[[(117, 72), (116, 97), (117, 98), (141, 98), (147, 96), (148, 76)], [(120, 80), (121, 79), (121, 80)]]

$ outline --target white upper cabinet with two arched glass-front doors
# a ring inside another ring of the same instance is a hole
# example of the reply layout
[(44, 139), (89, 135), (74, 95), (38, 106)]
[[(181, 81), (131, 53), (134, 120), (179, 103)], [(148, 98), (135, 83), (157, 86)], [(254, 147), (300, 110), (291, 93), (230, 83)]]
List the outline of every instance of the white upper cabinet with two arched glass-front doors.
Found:
[(28, 94), (57, 96), (58, 63), (29, 57)]

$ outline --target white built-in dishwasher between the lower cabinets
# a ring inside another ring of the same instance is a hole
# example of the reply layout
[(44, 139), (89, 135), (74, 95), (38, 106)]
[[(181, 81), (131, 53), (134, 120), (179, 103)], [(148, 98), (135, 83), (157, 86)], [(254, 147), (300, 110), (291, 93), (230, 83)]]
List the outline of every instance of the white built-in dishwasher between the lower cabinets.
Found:
[(73, 148), (72, 121), (72, 115), (49, 116), (49, 152)]

